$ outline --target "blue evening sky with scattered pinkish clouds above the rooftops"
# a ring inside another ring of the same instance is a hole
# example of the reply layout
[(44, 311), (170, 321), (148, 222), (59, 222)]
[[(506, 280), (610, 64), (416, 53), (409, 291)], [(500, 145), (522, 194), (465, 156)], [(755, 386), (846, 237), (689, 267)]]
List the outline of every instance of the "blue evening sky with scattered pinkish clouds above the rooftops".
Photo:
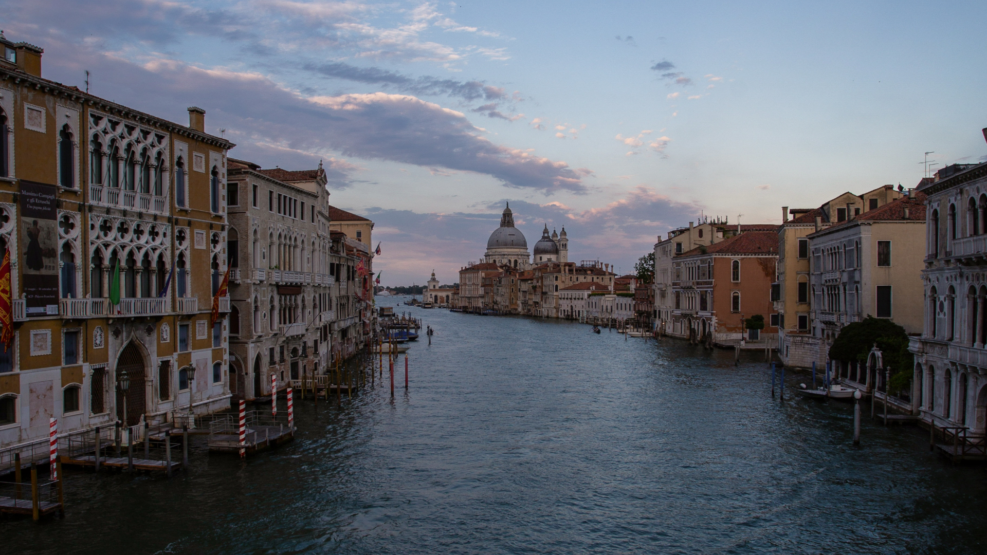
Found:
[(987, 3), (4, 1), (42, 76), (237, 146), (323, 162), (386, 285), (529, 249), (630, 273), (698, 221), (780, 223), (987, 160)]

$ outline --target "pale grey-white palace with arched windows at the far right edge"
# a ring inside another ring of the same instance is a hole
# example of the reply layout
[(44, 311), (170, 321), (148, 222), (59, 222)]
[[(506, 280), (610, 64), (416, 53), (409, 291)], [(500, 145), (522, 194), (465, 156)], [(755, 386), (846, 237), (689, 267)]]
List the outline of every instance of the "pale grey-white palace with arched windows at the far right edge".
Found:
[[(911, 338), (912, 409), (923, 422), (987, 433), (987, 164), (952, 165), (928, 195), (924, 325)], [(897, 368), (896, 368), (897, 369)]]

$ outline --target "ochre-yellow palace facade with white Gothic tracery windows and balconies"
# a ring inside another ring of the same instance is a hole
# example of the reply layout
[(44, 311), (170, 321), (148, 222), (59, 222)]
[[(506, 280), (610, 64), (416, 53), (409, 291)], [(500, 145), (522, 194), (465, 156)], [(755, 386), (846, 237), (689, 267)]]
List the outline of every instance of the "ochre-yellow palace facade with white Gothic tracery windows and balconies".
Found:
[(0, 447), (46, 441), (49, 418), (64, 433), (228, 408), (229, 298), (215, 325), (210, 312), (234, 145), (201, 109), (188, 125), (141, 113), (43, 79), (40, 48), (0, 42), (14, 53), (0, 59)]

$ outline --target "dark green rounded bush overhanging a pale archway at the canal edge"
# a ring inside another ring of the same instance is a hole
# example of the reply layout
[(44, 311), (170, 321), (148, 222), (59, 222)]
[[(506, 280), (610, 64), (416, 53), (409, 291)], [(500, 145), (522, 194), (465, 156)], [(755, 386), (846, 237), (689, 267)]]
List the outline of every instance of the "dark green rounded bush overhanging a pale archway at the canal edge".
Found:
[(907, 391), (912, 383), (915, 357), (908, 352), (908, 333), (890, 320), (868, 316), (863, 322), (843, 328), (829, 348), (829, 358), (866, 364), (875, 344), (884, 365), (891, 368), (888, 388), (892, 393)]

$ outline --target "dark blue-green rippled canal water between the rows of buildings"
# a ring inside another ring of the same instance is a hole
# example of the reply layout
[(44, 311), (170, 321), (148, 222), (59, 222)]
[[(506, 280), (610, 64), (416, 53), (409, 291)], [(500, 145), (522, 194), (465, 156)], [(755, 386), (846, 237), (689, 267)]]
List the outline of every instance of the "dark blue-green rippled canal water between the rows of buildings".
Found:
[(984, 469), (869, 419), (854, 448), (851, 405), (772, 399), (763, 355), (402, 300), (378, 297), (435, 329), (407, 392), (402, 359), (393, 400), (378, 378), (297, 401), (293, 442), (241, 462), (202, 441), (171, 480), (66, 469), (64, 519), (0, 521), (3, 551), (987, 550)]

